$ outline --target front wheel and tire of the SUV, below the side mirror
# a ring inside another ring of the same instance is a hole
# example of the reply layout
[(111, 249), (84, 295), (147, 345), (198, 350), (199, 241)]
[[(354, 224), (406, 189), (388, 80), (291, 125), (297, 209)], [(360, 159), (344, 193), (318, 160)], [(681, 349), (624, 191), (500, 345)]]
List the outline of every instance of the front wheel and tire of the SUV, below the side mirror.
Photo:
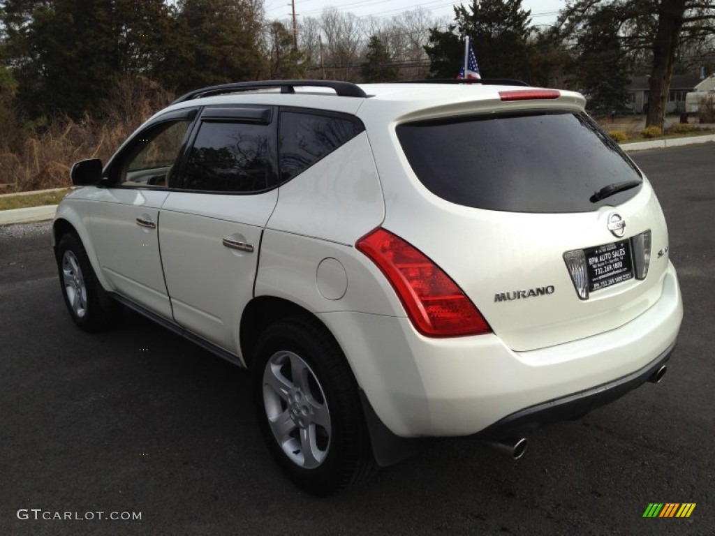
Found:
[(110, 327), (121, 307), (97, 281), (77, 234), (64, 234), (59, 240), (57, 270), (64, 304), (79, 329), (98, 332)]

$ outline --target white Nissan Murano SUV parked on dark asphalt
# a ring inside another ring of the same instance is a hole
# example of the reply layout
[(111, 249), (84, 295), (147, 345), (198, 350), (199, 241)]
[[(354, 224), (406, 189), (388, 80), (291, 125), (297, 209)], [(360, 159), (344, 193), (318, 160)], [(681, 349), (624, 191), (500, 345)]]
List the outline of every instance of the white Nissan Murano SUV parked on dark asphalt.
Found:
[(583, 96), (266, 81), (183, 96), (54, 220), (74, 322), (123, 304), (252, 374), (323, 495), (415, 439), (522, 435), (660, 379), (683, 314), (661, 207)]

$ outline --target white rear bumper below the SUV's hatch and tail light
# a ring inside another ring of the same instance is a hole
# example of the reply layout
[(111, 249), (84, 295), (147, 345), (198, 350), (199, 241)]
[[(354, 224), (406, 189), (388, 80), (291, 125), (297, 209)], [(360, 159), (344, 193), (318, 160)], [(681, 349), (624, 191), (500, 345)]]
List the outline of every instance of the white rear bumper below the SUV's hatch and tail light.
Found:
[(683, 306), (670, 265), (661, 297), (631, 322), (528, 352), (514, 352), (494, 334), (430, 339), (406, 318), (319, 316), (393, 435), (498, 438), (583, 414), (645, 382), (669, 357)]

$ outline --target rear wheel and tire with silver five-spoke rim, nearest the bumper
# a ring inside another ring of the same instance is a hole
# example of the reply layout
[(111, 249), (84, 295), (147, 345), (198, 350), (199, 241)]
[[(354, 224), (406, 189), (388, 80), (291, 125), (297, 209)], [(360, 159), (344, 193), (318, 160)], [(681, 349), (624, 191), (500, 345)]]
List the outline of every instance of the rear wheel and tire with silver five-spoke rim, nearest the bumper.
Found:
[(257, 342), (252, 389), (268, 449), (302, 490), (331, 495), (375, 472), (358, 384), (321, 324), (293, 317), (268, 327)]

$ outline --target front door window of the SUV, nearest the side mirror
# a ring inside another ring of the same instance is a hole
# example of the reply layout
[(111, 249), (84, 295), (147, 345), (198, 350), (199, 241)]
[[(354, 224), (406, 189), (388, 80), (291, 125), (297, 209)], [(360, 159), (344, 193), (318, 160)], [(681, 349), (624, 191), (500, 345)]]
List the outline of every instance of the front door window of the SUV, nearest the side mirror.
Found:
[(122, 186), (166, 187), (191, 121), (166, 121), (142, 132), (119, 169)]

